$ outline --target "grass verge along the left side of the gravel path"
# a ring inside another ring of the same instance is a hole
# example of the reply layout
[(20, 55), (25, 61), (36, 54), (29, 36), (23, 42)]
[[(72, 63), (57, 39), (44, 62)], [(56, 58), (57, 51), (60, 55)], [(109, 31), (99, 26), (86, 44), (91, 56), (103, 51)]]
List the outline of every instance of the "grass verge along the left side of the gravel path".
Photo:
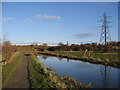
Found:
[(21, 61), (23, 54), (19, 53), (13, 57), (12, 61), (2, 67), (2, 87), (4, 88), (8, 83), (12, 73)]

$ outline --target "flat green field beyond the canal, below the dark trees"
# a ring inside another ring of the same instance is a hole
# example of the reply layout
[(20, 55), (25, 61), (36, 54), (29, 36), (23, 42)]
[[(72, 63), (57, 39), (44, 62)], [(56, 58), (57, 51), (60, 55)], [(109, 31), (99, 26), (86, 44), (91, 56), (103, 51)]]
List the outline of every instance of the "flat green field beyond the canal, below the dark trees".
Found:
[[(58, 54), (64, 54), (64, 55), (72, 55), (77, 57), (84, 57), (85, 51), (54, 51), (54, 53)], [(87, 53), (86, 55), (87, 56)], [(88, 56), (87, 56), (88, 57)], [(94, 58), (100, 58), (100, 59), (109, 59), (109, 60), (118, 60), (118, 52), (113, 53), (98, 53), (98, 52), (91, 52), (91, 56)]]

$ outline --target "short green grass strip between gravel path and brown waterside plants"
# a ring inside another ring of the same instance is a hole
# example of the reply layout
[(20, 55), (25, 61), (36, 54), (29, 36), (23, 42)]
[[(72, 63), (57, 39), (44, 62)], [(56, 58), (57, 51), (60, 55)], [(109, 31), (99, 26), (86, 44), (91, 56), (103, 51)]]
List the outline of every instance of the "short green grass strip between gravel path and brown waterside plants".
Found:
[(46, 87), (45, 77), (42, 76), (38, 70), (39, 64), (36, 64), (36, 61), (33, 57), (29, 57), (29, 80), (31, 88), (42, 88)]

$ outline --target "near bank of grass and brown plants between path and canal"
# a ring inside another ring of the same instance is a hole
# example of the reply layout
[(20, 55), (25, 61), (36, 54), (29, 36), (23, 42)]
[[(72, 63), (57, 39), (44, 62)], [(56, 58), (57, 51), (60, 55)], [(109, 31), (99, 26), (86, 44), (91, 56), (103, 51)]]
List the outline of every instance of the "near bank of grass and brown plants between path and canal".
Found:
[(38, 62), (35, 57), (29, 58), (29, 80), (31, 88), (89, 88), (91, 85), (78, 83), (75, 79), (64, 75), (60, 78), (53, 74), (49, 68)]

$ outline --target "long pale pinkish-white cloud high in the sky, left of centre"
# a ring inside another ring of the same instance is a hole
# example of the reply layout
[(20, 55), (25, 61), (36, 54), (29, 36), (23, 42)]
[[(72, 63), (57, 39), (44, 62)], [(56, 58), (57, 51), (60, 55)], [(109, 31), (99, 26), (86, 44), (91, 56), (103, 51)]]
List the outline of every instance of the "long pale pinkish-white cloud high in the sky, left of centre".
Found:
[(52, 19), (52, 20), (61, 19), (60, 16), (49, 16), (49, 15), (34, 15), (33, 18), (35, 18), (35, 19), (43, 18), (43, 19), (46, 19), (46, 20), (49, 20), (49, 19)]

